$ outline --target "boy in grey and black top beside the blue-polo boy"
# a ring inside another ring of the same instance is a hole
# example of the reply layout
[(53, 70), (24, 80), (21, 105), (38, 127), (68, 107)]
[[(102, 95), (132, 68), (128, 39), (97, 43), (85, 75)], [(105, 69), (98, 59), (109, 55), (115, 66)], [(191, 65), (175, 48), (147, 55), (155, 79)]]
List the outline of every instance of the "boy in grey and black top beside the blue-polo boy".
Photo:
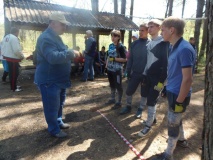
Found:
[(147, 120), (144, 121), (145, 127), (138, 133), (140, 137), (147, 136), (153, 123), (156, 123), (156, 103), (167, 77), (169, 43), (165, 42), (159, 35), (161, 23), (162, 21), (158, 19), (152, 19), (148, 22), (151, 41), (147, 45), (147, 63), (143, 72), (145, 81), (142, 84), (141, 105), (136, 116), (141, 117), (146, 105), (148, 113)]

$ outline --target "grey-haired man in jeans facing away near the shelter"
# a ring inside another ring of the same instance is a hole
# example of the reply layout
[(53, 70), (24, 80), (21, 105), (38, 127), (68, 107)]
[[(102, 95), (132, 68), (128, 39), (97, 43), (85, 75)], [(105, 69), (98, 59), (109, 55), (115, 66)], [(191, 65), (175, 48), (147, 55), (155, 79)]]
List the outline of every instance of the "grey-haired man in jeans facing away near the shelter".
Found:
[[(85, 36), (85, 62), (84, 62), (84, 72), (83, 77), (81, 79), (82, 82), (93, 81), (94, 80), (94, 56), (96, 52), (96, 41), (93, 38), (93, 33), (91, 30), (86, 31)], [(88, 71), (89, 71), (89, 77), (88, 77)]]

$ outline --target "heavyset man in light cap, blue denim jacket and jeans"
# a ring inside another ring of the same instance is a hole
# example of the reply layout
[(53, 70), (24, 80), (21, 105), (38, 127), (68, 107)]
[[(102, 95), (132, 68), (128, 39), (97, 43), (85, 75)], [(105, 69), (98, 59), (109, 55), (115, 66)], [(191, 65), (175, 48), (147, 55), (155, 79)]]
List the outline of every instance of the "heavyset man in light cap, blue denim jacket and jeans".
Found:
[(66, 137), (61, 129), (69, 128), (69, 124), (62, 121), (62, 111), (66, 88), (71, 86), (71, 59), (78, 54), (78, 51), (68, 49), (59, 36), (65, 32), (67, 25), (70, 23), (63, 14), (51, 14), (49, 26), (39, 36), (35, 50), (35, 84), (41, 92), (48, 131), (58, 138)]

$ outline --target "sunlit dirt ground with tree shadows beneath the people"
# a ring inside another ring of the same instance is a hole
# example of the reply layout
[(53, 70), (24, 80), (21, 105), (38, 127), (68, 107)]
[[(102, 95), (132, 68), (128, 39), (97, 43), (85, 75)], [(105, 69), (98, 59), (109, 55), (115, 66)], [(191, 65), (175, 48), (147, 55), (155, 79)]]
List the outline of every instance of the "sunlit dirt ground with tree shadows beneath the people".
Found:
[[(2, 71), (0, 71), (2, 75)], [(30, 78), (30, 79), (29, 79)], [(66, 130), (69, 137), (56, 139), (46, 131), (40, 94), (33, 84), (33, 70), (23, 71), (20, 85), (24, 91), (13, 93), (9, 85), (0, 84), (0, 160), (136, 160), (135, 154), (119, 138), (107, 121), (90, 109), (99, 107), (101, 112), (146, 158), (163, 152), (166, 147), (166, 103), (160, 99), (157, 107), (158, 124), (146, 139), (134, 139), (142, 129), (141, 120), (134, 118), (139, 105), (139, 90), (134, 95), (133, 110), (129, 115), (118, 116), (119, 110), (110, 110), (104, 103), (109, 96), (107, 78), (94, 82), (72, 79), (73, 87), (67, 91), (64, 107)], [(185, 135), (190, 148), (177, 147), (176, 160), (199, 160), (203, 127), (204, 74), (196, 74), (191, 104), (184, 114)], [(126, 82), (123, 81), (124, 90)], [(125, 105), (125, 95), (123, 106)], [(146, 118), (146, 111), (143, 118)]]

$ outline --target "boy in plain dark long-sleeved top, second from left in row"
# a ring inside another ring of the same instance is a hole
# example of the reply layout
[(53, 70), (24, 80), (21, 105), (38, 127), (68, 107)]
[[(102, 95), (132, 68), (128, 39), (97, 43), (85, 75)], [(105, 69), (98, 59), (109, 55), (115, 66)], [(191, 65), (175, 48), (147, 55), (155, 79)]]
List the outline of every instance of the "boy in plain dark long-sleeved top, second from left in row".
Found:
[[(128, 85), (126, 89), (126, 107), (121, 110), (120, 115), (131, 112), (132, 95), (135, 93), (138, 85), (143, 83), (143, 72), (147, 61), (146, 46), (149, 43), (147, 36), (147, 24), (141, 24), (139, 27), (139, 39), (132, 42), (130, 46), (130, 57), (127, 61), (126, 67), (128, 78)], [(138, 114), (136, 113), (136, 117), (137, 115)]]

